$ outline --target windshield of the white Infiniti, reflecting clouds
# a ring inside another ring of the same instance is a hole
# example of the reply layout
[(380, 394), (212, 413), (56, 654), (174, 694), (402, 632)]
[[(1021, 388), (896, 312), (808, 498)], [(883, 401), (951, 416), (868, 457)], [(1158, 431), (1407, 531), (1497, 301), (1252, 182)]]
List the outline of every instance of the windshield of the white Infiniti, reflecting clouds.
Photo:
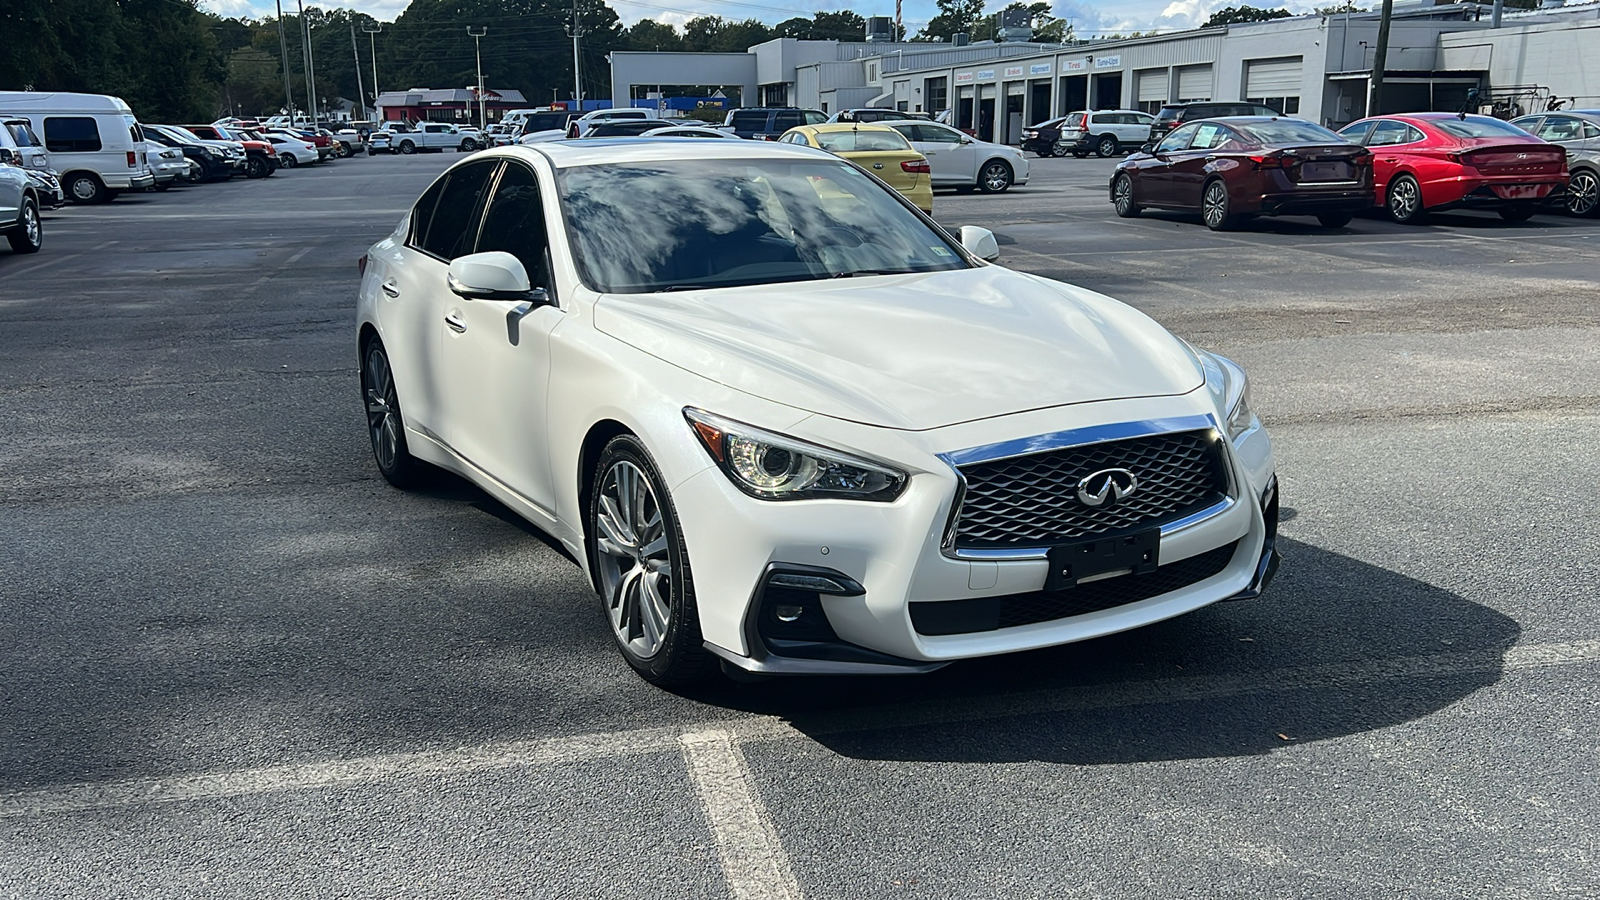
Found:
[(805, 282), (968, 266), (949, 235), (845, 162), (706, 159), (558, 170), (582, 280), (598, 291)]

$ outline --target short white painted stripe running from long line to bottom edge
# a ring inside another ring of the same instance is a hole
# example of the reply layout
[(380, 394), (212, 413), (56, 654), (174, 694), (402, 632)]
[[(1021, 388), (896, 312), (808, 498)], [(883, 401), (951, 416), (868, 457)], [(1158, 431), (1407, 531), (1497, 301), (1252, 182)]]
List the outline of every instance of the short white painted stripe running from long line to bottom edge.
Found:
[(733, 732), (690, 732), (678, 743), (734, 898), (800, 900), (800, 884)]

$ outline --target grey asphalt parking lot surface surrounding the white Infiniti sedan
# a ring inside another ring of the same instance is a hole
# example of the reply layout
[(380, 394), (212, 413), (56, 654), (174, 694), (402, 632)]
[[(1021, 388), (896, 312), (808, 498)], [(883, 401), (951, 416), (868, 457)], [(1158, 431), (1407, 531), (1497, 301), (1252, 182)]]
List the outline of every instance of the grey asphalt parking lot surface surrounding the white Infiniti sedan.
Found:
[(1597, 897), (1600, 221), (939, 194), (1253, 378), (1267, 597), (667, 693), (552, 543), (378, 476), (355, 261), (456, 154), (0, 250), (3, 897)]

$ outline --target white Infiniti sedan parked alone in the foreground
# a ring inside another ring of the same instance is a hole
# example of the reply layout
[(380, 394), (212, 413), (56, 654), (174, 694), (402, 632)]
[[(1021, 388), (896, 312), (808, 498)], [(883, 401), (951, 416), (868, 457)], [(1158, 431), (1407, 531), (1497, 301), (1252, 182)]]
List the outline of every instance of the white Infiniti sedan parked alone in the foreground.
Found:
[(658, 684), (928, 671), (1258, 596), (1245, 373), (994, 256), (806, 147), (486, 151), (362, 261), (373, 455), (558, 540)]

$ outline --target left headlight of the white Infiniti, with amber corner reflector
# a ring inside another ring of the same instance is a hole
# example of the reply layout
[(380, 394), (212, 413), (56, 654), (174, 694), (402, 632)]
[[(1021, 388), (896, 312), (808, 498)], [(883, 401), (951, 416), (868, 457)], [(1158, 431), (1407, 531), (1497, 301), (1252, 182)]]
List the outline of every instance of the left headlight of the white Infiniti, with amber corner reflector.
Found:
[(906, 472), (797, 437), (685, 408), (701, 445), (739, 490), (760, 500), (891, 501)]

